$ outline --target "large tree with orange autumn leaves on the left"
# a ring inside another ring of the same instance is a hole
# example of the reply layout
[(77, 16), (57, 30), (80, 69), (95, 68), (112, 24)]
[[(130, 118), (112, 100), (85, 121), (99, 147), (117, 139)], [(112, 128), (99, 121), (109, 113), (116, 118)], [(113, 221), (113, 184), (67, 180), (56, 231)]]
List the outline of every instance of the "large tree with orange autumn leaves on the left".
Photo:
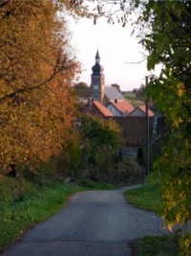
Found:
[(62, 1), (0, 3), (0, 161), (34, 166), (71, 137), (79, 65), (70, 52)]

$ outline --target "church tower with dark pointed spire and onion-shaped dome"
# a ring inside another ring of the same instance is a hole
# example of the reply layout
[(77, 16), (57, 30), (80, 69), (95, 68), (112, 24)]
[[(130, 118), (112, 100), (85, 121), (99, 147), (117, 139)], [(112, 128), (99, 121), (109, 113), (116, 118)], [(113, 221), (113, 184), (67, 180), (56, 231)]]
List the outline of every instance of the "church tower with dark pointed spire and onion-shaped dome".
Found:
[(92, 99), (104, 104), (105, 94), (105, 77), (103, 75), (103, 67), (100, 65), (100, 57), (98, 50), (96, 52), (96, 64), (92, 67), (91, 75), (91, 95)]

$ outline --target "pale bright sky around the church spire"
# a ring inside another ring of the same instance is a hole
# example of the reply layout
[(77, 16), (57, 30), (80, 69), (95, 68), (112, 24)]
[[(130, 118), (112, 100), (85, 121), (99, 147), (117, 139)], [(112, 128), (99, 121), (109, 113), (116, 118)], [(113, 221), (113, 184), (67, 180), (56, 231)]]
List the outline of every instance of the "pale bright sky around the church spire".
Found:
[(105, 18), (99, 18), (94, 25), (93, 19), (81, 18), (77, 22), (70, 19), (69, 30), (74, 54), (82, 63), (83, 72), (79, 81), (90, 85), (98, 49), (106, 86), (117, 83), (122, 91), (130, 91), (145, 83), (145, 76), (148, 75), (146, 60), (129, 64), (145, 58), (138, 38), (131, 35), (133, 28), (130, 25), (124, 28), (121, 24), (111, 25)]

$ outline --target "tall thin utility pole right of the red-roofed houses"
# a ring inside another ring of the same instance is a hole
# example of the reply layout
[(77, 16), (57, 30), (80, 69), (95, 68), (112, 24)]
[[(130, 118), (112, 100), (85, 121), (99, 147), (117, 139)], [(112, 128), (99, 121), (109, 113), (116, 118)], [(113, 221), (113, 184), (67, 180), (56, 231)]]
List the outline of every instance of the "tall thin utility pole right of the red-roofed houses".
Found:
[[(145, 77), (145, 86), (147, 88), (148, 85), (148, 76)], [(146, 145), (145, 145), (145, 175), (149, 174), (149, 106), (148, 99), (145, 97), (145, 113), (146, 113)]]

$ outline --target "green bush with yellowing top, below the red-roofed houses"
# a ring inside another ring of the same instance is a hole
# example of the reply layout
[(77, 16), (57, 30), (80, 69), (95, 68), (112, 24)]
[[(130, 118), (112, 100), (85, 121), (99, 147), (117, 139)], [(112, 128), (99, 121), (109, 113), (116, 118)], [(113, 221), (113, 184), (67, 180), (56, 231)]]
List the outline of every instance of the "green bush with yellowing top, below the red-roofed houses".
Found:
[(121, 129), (113, 120), (84, 116), (80, 134), (88, 175), (99, 180), (114, 182), (115, 163), (121, 146)]

